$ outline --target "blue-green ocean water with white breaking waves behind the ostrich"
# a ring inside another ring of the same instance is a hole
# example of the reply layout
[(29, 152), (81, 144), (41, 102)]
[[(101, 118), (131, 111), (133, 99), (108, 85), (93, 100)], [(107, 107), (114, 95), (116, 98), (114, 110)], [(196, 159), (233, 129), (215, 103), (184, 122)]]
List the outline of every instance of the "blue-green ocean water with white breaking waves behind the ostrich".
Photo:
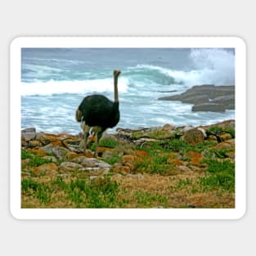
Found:
[(192, 112), (190, 104), (158, 101), (195, 85), (235, 85), (234, 49), (23, 48), (21, 56), (22, 128), (79, 133), (75, 110), (90, 94), (114, 99), (115, 69), (122, 71), (117, 127), (195, 126), (235, 119), (235, 110)]

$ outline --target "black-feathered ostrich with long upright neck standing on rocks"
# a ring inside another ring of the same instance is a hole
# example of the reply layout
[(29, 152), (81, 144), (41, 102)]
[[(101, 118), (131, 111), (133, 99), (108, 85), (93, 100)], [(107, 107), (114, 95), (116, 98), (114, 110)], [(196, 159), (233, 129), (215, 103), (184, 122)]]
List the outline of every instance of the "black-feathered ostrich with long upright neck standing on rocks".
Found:
[(92, 128), (97, 135), (96, 149), (93, 157), (98, 156), (98, 145), (106, 128), (113, 128), (119, 123), (119, 96), (118, 96), (118, 77), (120, 70), (114, 70), (115, 101), (110, 101), (102, 95), (90, 95), (85, 97), (79, 108), (76, 110), (75, 119), (81, 123), (84, 135), (84, 153), (87, 150), (88, 136)]

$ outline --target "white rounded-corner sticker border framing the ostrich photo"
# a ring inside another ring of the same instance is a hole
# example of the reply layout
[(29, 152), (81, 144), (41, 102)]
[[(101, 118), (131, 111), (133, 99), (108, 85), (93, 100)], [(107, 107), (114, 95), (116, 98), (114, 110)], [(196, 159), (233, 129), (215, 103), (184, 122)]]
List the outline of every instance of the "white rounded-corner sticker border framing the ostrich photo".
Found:
[[(236, 48), (235, 209), (21, 209), (20, 81), (22, 47)], [(238, 219), (246, 210), (246, 47), (236, 37), (22, 37), (10, 46), (10, 210), (18, 219)]]

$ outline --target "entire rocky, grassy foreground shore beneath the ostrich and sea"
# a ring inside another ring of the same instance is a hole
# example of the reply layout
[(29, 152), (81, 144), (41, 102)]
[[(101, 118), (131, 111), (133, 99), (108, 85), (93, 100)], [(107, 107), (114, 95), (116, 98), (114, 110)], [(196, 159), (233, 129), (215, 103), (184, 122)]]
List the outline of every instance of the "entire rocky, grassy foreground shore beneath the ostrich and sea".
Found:
[(94, 137), (83, 153), (81, 134), (24, 129), (21, 205), (233, 208), (235, 130), (235, 120), (198, 127), (117, 128), (102, 137), (96, 159)]

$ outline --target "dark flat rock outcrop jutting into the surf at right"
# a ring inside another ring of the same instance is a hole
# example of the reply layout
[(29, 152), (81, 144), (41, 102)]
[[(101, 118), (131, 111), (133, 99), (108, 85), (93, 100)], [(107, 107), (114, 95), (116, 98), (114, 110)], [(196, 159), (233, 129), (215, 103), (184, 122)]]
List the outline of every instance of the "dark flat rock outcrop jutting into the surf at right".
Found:
[(180, 95), (160, 97), (159, 101), (193, 104), (192, 111), (223, 112), (235, 109), (235, 86), (197, 85)]

